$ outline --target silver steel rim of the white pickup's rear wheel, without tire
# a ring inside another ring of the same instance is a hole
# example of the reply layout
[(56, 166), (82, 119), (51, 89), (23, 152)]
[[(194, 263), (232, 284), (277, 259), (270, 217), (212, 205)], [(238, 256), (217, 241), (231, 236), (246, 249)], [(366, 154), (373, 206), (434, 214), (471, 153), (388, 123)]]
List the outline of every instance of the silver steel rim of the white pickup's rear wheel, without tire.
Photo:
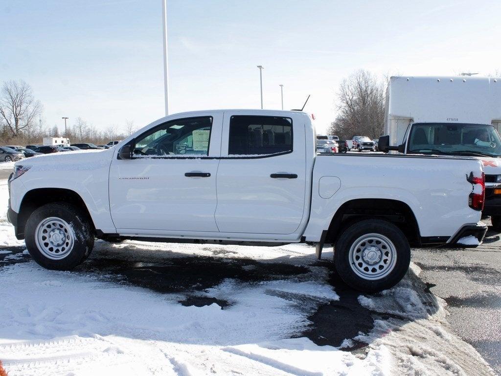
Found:
[(365, 234), (355, 240), (349, 252), (350, 266), (365, 280), (378, 280), (391, 273), (397, 261), (393, 242), (381, 234)]

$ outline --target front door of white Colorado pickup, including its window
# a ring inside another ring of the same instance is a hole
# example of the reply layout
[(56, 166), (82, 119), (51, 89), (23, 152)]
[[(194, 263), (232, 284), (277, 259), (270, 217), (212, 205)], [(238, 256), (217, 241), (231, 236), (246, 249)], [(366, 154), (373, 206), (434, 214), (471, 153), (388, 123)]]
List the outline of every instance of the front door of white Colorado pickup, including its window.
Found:
[(221, 123), (222, 112), (171, 119), (135, 138), (132, 159), (112, 161), (110, 208), (118, 232), (217, 232)]

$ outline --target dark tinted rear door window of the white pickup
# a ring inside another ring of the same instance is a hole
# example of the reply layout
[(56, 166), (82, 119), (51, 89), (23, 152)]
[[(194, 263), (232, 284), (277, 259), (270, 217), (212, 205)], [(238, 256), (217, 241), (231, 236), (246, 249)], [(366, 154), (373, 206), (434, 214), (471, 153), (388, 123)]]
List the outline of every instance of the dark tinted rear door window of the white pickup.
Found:
[(275, 116), (231, 116), (229, 155), (262, 155), (292, 151), (292, 119)]

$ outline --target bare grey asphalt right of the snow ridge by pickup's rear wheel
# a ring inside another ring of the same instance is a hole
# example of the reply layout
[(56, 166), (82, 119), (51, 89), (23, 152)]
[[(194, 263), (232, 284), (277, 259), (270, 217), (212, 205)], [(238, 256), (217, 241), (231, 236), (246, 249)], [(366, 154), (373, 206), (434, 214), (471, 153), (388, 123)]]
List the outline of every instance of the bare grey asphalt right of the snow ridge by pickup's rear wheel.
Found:
[(501, 374), (500, 234), (489, 228), (477, 248), (416, 249), (412, 259), (429, 290), (447, 302), (451, 330)]

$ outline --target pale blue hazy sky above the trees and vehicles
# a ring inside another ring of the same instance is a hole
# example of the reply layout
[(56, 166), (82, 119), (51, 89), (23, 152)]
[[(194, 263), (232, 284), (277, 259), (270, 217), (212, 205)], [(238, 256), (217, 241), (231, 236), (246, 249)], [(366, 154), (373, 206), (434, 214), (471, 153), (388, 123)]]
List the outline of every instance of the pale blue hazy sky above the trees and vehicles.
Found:
[[(501, 2), (168, 0), (170, 110), (307, 106), (324, 130), (340, 81), (501, 69)], [(24, 79), (62, 127), (162, 117), (160, 0), (2, 0), (0, 81)]]

